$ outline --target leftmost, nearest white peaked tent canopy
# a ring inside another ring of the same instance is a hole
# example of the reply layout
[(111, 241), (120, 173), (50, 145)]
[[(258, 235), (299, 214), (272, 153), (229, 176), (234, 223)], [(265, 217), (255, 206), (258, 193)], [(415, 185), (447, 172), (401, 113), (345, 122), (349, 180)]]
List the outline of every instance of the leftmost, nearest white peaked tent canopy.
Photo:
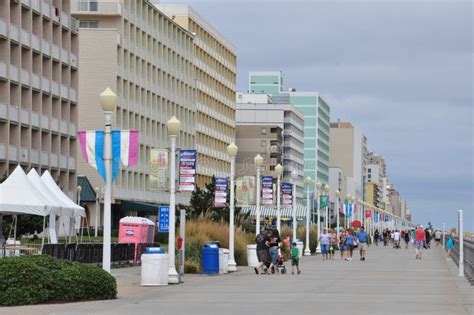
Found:
[(47, 216), (53, 206), (35, 188), (18, 166), (0, 185), (0, 213)]

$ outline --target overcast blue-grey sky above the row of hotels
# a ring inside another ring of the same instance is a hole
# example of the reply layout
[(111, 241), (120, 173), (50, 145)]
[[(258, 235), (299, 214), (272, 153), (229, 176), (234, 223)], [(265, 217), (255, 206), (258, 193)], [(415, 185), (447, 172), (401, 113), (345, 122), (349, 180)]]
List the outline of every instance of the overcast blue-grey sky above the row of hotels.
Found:
[(474, 231), (471, 1), (162, 0), (190, 4), (248, 72), (319, 91), (383, 155), (416, 223)]

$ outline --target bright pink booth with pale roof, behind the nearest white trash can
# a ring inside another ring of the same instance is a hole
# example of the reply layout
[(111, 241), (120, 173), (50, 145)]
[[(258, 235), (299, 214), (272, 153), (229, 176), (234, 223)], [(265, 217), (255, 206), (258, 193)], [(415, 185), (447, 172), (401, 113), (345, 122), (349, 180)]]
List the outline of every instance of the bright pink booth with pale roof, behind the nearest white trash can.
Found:
[(140, 260), (140, 257), (137, 257), (138, 244), (153, 243), (154, 237), (155, 223), (150, 219), (141, 217), (124, 217), (120, 219), (119, 243), (135, 244), (135, 263)]

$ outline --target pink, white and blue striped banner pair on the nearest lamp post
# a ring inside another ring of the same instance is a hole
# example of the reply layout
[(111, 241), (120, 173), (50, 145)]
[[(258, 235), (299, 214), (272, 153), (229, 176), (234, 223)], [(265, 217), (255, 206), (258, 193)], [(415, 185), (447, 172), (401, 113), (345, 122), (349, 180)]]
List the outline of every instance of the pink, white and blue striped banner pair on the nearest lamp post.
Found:
[[(104, 144), (105, 132), (78, 131), (77, 137), (81, 146), (82, 157), (105, 182)], [(113, 130), (112, 131), (112, 183), (117, 177), (120, 166), (129, 167), (137, 164), (138, 160), (138, 131)]]

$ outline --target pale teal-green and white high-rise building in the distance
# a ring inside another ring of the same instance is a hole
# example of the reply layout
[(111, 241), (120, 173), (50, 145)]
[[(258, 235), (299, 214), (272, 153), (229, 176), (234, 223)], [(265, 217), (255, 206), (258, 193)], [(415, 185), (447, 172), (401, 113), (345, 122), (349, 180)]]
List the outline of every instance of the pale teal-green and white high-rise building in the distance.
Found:
[(321, 95), (293, 88), (284, 92), (281, 71), (250, 72), (248, 92), (268, 94), (271, 103), (291, 104), (304, 114), (304, 176), (328, 184), (330, 107)]

